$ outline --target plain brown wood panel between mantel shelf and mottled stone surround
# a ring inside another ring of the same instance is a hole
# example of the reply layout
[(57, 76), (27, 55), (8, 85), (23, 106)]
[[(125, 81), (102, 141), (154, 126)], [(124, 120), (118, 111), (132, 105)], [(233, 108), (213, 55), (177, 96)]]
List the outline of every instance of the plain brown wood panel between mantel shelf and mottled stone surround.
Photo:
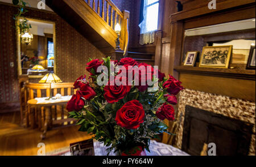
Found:
[(180, 73), (184, 88), (255, 101), (255, 81)]

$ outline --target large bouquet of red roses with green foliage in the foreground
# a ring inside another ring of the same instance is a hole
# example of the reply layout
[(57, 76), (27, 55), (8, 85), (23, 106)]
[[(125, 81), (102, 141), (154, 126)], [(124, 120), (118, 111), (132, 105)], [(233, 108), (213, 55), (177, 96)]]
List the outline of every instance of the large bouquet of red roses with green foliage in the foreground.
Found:
[(176, 95), (181, 82), (169, 79), (156, 68), (133, 58), (111, 61), (89, 59), (86, 76), (74, 83), (76, 95), (68, 102), (69, 117), (80, 131), (109, 146), (108, 151), (139, 155), (149, 150), (150, 139), (168, 133), (163, 120), (174, 121)]

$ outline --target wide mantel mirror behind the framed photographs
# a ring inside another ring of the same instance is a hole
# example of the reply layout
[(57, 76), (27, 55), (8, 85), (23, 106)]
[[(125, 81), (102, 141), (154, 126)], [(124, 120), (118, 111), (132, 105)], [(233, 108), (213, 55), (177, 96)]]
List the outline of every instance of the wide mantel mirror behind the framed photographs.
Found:
[(183, 61), (185, 61), (187, 52), (199, 51), (200, 54), (196, 61), (199, 62), (204, 46), (226, 45), (233, 45), (230, 63), (246, 64), (251, 45), (255, 46), (255, 19), (186, 29), (184, 34)]

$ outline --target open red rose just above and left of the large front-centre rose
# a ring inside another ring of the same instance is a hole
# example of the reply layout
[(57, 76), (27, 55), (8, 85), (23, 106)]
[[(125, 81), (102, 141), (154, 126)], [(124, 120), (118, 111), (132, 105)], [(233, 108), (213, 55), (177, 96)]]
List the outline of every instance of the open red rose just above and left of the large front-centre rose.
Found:
[[(118, 79), (117, 77), (115, 79)], [(125, 82), (127, 82), (126, 78), (124, 78)], [(127, 85), (126, 83), (122, 83), (121, 85), (110, 85), (110, 82), (108, 85), (105, 86), (104, 91), (104, 97), (106, 101), (109, 103), (118, 102), (118, 100), (123, 99), (128, 92), (130, 92), (131, 86)]]

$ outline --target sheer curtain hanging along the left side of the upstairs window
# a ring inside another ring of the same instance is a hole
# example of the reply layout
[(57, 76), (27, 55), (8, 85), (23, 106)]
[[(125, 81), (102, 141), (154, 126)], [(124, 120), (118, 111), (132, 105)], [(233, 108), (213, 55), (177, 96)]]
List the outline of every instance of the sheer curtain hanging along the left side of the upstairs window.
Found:
[(141, 16), (139, 28), (141, 28), (141, 35), (139, 36), (139, 44), (152, 44), (155, 42), (155, 31), (147, 32), (147, 1), (142, 0), (141, 3)]

